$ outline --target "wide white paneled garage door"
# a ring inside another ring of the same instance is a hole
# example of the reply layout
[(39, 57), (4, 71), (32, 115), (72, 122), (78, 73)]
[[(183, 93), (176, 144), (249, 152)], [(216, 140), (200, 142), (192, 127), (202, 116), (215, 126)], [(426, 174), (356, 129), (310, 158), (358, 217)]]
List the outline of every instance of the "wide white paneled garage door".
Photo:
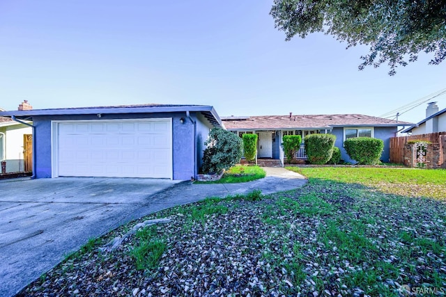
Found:
[(170, 118), (56, 125), (56, 176), (172, 178)]

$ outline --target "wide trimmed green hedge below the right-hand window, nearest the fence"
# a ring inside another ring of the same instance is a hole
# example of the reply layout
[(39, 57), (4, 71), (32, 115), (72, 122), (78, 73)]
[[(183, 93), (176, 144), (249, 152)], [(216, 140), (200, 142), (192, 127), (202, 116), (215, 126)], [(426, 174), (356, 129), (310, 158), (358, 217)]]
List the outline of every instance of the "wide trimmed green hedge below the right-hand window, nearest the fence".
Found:
[(358, 164), (374, 165), (379, 163), (384, 141), (370, 137), (348, 138), (344, 141), (344, 147), (348, 156)]

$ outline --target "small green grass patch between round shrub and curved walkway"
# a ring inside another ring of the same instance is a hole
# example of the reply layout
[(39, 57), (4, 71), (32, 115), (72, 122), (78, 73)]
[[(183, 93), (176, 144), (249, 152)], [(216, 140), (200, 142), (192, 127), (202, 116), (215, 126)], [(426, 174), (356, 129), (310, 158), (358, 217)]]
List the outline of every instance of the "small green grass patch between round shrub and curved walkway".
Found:
[(235, 184), (239, 182), (252, 182), (266, 177), (266, 172), (259, 166), (233, 166), (229, 168), (221, 179), (215, 182), (195, 182), (196, 184)]

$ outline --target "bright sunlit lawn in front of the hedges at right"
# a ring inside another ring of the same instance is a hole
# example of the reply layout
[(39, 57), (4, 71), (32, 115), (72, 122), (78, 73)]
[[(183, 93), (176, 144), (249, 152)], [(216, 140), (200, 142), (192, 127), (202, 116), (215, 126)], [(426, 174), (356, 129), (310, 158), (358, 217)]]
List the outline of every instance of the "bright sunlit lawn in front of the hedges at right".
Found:
[(408, 197), (427, 197), (446, 201), (446, 170), (415, 168), (298, 168), (286, 169), (317, 178), (362, 184), (376, 191), (406, 195)]

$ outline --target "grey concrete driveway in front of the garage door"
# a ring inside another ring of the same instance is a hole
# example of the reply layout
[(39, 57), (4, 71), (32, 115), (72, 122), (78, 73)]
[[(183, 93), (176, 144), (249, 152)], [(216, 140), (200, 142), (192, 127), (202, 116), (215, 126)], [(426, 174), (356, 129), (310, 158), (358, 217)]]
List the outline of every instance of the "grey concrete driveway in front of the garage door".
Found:
[(0, 296), (13, 296), (89, 239), (166, 208), (169, 179), (0, 181)]

